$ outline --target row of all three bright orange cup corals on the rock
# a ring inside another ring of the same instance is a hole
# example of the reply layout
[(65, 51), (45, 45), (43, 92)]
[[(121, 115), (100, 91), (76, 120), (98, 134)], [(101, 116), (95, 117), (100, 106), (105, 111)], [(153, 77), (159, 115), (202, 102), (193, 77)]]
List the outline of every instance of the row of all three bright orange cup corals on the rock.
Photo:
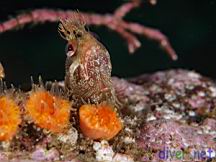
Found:
[[(31, 92), (25, 110), (40, 128), (54, 133), (63, 132), (69, 125), (71, 104), (44, 89)], [(122, 123), (111, 105), (83, 105), (79, 109), (80, 128), (91, 139), (113, 138)], [(0, 141), (10, 140), (21, 123), (20, 108), (7, 96), (0, 97)]]

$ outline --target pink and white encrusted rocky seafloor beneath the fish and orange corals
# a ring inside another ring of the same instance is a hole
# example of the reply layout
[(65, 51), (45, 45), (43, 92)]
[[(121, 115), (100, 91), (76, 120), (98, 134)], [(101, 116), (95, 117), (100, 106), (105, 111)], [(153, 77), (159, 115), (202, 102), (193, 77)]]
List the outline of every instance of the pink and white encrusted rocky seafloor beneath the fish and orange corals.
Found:
[(86, 139), (74, 125), (49, 134), (27, 125), (1, 142), (0, 161), (216, 161), (216, 84), (196, 72), (169, 70), (113, 77), (123, 130), (110, 141)]

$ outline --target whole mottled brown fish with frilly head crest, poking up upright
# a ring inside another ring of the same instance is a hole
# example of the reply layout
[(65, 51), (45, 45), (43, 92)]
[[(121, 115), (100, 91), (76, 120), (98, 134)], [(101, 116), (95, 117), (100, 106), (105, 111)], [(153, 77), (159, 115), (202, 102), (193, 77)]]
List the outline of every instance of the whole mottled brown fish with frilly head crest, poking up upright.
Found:
[(60, 21), (58, 31), (66, 45), (65, 87), (83, 103), (120, 105), (115, 95), (110, 54), (77, 19)]

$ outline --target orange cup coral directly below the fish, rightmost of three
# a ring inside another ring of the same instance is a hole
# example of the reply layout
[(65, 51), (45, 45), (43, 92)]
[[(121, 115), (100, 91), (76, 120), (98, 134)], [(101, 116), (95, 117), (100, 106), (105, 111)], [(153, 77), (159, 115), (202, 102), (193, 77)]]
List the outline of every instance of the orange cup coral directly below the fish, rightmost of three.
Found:
[(80, 128), (91, 139), (113, 138), (122, 129), (122, 123), (108, 104), (83, 105), (79, 110)]

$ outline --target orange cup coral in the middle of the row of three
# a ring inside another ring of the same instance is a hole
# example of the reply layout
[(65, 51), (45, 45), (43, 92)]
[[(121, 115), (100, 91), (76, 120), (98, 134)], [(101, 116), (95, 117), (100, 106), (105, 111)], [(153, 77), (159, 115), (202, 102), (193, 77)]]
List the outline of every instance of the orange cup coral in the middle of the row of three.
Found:
[(34, 123), (54, 133), (61, 133), (69, 124), (69, 101), (45, 90), (32, 92), (25, 105)]

